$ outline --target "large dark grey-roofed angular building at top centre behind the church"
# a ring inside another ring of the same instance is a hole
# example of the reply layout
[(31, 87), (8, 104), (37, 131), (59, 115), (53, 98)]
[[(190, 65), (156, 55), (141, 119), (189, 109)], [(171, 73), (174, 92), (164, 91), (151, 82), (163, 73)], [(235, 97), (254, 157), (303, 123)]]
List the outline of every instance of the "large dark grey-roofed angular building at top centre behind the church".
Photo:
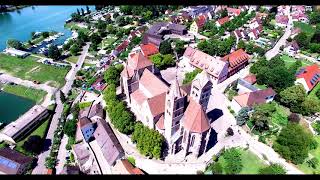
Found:
[(163, 41), (163, 37), (167, 34), (185, 35), (187, 34), (187, 29), (183, 25), (159, 22), (154, 24), (145, 32), (142, 44), (152, 43), (159, 47), (160, 43)]

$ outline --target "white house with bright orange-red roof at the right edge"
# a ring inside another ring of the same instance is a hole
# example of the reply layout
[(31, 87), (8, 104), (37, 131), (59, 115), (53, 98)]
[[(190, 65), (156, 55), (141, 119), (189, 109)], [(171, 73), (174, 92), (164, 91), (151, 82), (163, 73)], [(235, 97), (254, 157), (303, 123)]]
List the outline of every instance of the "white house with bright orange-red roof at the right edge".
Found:
[(319, 66), (313, 64), (300, 68), (296, 73), (296, 78), (295, 84), (301, 84), (306, 92), (309, 93), (320, 81)]

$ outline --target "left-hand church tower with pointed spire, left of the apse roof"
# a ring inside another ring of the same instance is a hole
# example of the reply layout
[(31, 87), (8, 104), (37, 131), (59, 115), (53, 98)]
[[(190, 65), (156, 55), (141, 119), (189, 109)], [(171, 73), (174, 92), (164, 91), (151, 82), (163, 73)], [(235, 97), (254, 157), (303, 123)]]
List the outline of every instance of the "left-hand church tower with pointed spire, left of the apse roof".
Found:
[(165, 138), (168, 141), (170, 153), (174, 153), (174, 142), (180, 136), (174, 136), (180, 129), (180, 120), (185, 110), (186, 96), (181, 92), (177, 79), (171, 84), (165, 101)]

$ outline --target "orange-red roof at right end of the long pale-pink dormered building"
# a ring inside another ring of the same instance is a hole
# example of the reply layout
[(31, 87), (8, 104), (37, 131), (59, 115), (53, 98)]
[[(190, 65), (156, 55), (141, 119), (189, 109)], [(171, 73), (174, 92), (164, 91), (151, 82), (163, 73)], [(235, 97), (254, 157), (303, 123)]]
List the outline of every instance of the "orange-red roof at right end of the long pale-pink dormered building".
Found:
[(229, 68), (234, 68), (240, 64), (243, 64), (247, 62), (248, 59), (249, 55), (243, 51), (243, 49), (238, 49), (222, 58), (223, 61), (228, 61), (230, 63)]

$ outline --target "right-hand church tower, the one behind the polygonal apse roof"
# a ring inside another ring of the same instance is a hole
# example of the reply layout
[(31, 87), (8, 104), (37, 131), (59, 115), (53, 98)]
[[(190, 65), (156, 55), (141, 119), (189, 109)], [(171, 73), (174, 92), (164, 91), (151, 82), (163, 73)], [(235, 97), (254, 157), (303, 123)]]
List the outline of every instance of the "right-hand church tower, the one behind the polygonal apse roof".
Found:
[(209, 79), (209, 75), (205, 71), (198, 74), (191, 84), (190, 97), (201, 104), (205, 112), (210, 99), (211, 88), (212, 83)]

